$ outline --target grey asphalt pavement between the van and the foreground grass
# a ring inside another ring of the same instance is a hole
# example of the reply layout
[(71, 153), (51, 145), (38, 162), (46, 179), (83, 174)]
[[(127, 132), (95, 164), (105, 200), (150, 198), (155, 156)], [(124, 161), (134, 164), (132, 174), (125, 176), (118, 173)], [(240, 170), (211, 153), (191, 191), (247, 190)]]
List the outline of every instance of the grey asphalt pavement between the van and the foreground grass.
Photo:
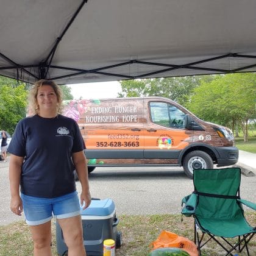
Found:
[[(24, 218), (9, 210), (8, 169), (8, 162), (0, 163), (0, 225)], [(91, 172), (90, 191), (92, 197), (113, 199), (117, 215), (172, 214), (180, 213), (181, 200), (193, 191), (193, 181), (177, 167), (102, 167)], [(241, 198), (256, 202), (256, 176), (242, 175), (240, 191)]]

